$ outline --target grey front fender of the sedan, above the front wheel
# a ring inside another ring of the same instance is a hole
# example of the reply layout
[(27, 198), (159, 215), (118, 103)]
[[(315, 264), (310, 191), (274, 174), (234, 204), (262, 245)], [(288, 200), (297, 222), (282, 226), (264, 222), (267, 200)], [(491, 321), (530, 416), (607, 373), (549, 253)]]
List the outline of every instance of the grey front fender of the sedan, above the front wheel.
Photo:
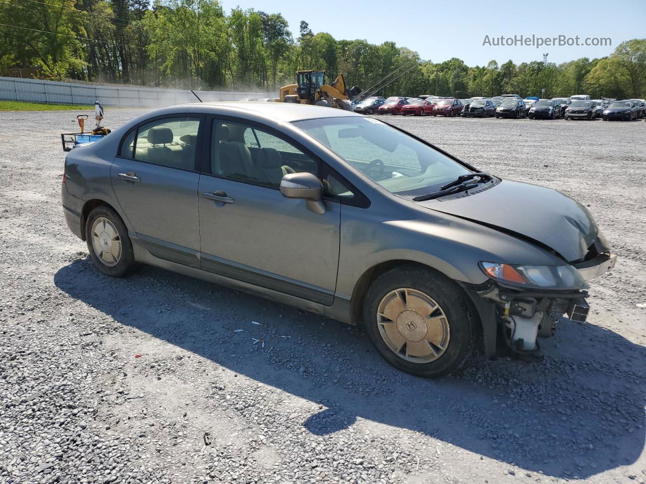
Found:
[(398, 213), (406, 217), (388, 219), (388, 214), (373, 207), (370, 213), (358, 207), (342, 208), (337, 296), (351, 297), (366, 271), (389, 261), (419, 263), (473, 285), (488, 281), (479, 261), (562, 263), (527, 241), (448, 214), (410, 210)]

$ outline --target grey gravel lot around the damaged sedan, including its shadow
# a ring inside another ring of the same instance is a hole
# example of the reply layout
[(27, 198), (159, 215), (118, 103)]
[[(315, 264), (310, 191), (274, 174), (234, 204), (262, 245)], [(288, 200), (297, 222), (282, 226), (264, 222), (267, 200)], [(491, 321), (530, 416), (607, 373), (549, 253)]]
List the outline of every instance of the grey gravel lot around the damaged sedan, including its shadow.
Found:
[(430, 381), (337, 321), (151, 267), (101, 275), (60, 206), (76, 114), (0, 113), (0, 482), (645, 483), (643, 121), (384, 118), (575, 197), (620, 255), (543, 363), (479, 354)]

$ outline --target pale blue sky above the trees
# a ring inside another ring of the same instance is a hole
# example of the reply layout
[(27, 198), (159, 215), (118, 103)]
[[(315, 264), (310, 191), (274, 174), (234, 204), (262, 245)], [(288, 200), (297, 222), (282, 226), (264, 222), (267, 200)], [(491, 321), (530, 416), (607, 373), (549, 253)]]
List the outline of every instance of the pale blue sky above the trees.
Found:
[[(395, 41), (419, 52), (422, 59), (441, 62), (459, 57), (470, 66), (486, 65), (491, 59), (503, 63), (543, 60), (561, 63), (579, 57), (609, 55), (621, 42), (646, 37), (646, 0), (350, 0), (285, 2), (284, 0), (220, 0), (231, 8), (254, 8), (280, 12), (298, 36), (301, 20), (313, 32), (328, 32), (336, 39), (366, 39), (380, 44)], [(329, 5), (327, 11), (318, 6)], [(340, 6), (348, 5), (346, 14)], [(289, 7), (289, 8), (287, 8)], [(398, 21), (397, 18), (400, 20)], [(494, 37), (610, 37), (610, 46), (494, 46), (485, 45), (485, 35)]]

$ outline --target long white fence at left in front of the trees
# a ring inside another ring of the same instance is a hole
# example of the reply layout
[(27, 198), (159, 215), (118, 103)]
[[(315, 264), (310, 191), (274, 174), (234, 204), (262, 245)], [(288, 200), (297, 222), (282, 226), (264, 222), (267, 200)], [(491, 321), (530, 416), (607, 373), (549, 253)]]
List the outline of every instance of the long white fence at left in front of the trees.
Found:
[[(268, 92), (195, 91), (202, 101), (238, 101), (242, 97), (275, 97)], [(198, 100), (189, 90), (149, 87), (95, 86), (42, 79), (0, 77), (0, 99), (29, 103), (161, 107)]]

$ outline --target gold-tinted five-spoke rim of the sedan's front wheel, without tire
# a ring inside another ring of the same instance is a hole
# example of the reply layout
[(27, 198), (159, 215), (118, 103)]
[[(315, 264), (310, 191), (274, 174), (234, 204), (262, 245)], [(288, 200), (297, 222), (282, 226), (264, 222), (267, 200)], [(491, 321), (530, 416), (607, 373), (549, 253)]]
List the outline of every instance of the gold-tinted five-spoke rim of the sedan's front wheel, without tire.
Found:
[(417, 289), (386, 294), (377, 308), (377, 327), (388, 348), (412, 363), (435, 361), (448, 348), (450, 328), (444, 310)]

